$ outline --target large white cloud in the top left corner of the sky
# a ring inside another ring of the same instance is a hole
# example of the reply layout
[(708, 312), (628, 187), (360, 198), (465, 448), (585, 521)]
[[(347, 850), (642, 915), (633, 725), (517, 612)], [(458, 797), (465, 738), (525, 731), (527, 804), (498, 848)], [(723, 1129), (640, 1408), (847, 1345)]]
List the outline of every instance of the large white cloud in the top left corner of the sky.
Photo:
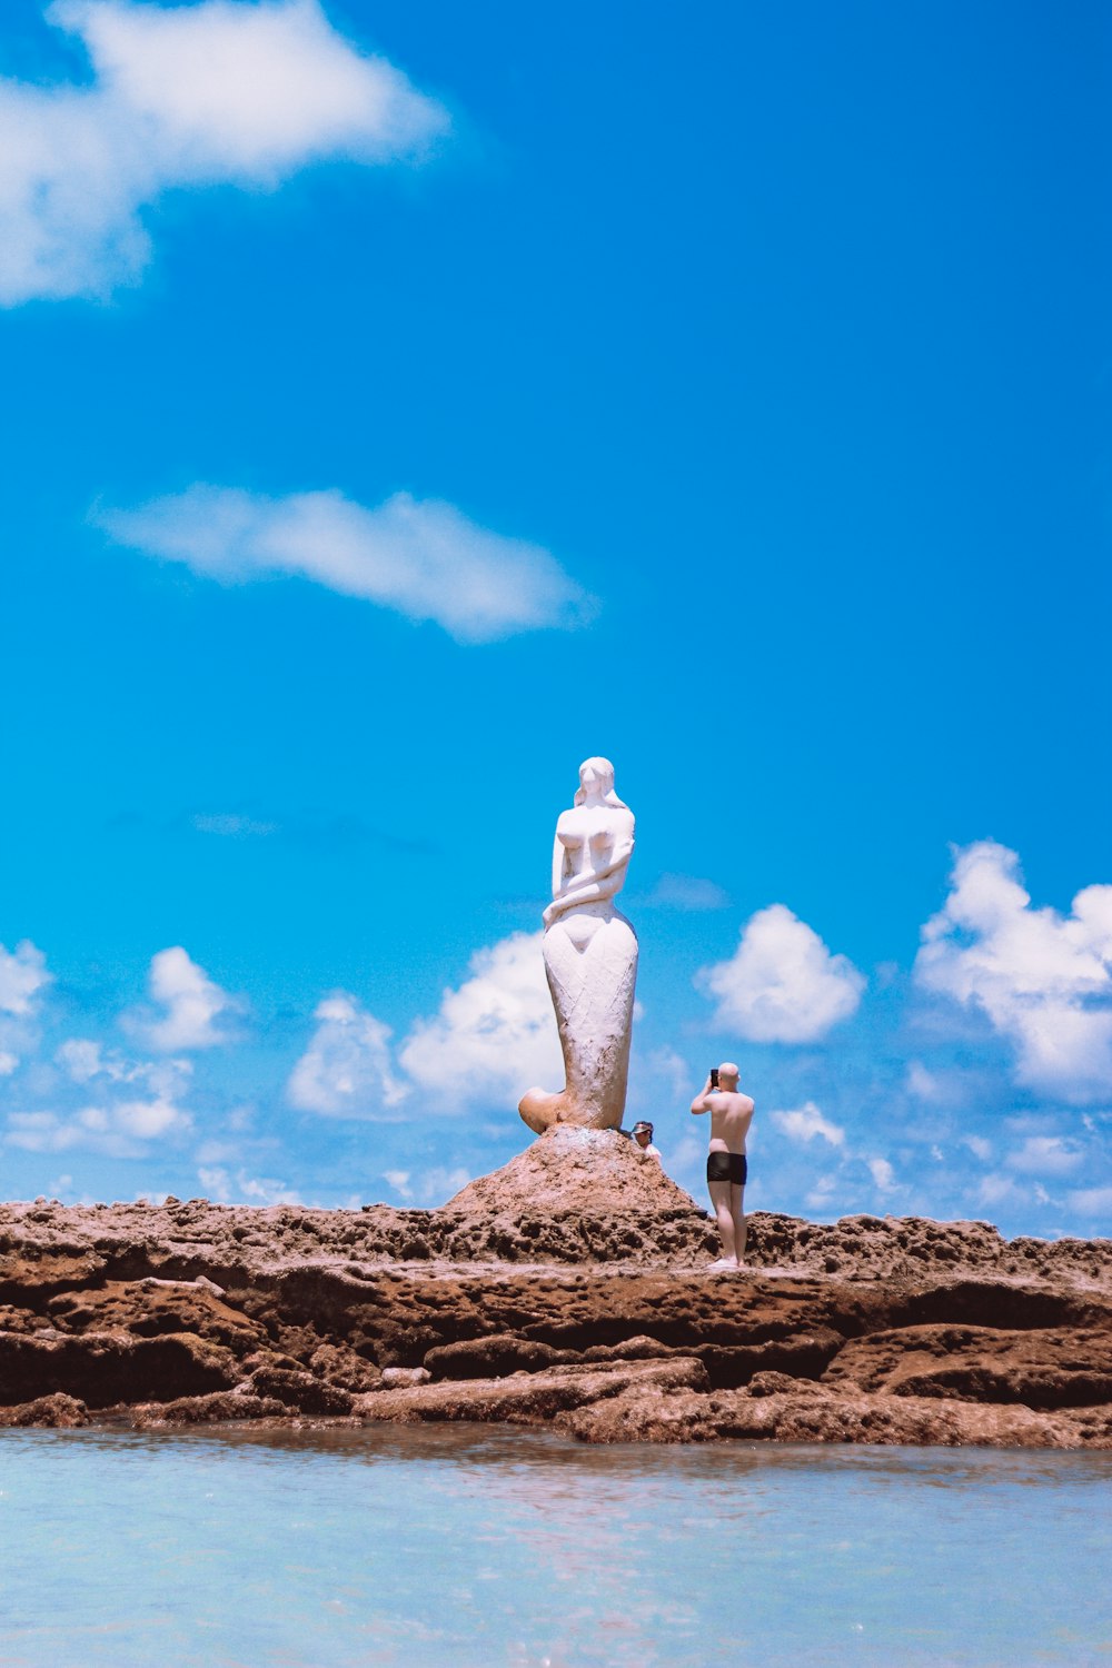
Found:
[(0, 305), (137, 284), (170, 187), (273, 188), (327, 158), (417, 158), (445, 110), (317, 0), (57, 0), (92, 85), (0, 80)]

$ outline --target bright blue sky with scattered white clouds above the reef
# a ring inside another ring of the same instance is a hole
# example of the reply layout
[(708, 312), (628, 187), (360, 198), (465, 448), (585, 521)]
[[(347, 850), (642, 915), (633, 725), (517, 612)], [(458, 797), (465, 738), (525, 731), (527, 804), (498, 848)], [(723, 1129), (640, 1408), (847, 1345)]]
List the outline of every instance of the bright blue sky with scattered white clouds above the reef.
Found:
[(0, 1191), (505, 1163), (602, 752), (680, 1181), (1110, 1231), (1109, 48), (10, 0)]

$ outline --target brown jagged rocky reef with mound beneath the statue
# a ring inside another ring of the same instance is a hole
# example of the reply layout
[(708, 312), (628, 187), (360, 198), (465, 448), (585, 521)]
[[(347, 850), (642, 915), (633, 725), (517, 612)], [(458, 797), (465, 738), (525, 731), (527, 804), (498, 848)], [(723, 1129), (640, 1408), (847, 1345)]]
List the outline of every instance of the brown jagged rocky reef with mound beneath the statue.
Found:
[(440, 1211), (0, 1206), (0, 1424), (497, 1419), (582, 1441), (1112, 1448), (1112, 1241), (694, 1201), (553, 1129)]

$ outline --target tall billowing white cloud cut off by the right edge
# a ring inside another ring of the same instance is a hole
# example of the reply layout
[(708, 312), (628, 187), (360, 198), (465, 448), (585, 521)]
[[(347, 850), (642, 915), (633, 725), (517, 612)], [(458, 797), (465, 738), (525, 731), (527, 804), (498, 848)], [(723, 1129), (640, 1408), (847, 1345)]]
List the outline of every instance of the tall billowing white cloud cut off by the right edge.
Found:
[(980, 1009), (1015, 1049), (1019, 1083), (1069, 1101), (1109, 1093), (1112, 886), (1087, 886), (1069, 916), (1032, 909), (1017, 854), (977, 841), (955, 854), (922, 939), (919, 984)]

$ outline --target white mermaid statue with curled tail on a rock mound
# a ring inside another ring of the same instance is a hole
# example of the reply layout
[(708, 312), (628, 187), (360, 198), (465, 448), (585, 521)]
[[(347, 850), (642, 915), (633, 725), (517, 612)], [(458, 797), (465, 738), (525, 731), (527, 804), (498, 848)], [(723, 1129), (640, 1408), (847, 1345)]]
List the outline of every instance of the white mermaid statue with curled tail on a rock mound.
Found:
[(564, 1049), (565, 1086), (530, 1089), (518, 1113), (552, 1124), (619, 1129), (625, 1111), (637, 934), (614, 906), (634, 852), (634, 812), (614, 792), (609, 759), (579, 767), (579, 792), (560, 812), (552, 849), (552, 902), (543, 957)]

